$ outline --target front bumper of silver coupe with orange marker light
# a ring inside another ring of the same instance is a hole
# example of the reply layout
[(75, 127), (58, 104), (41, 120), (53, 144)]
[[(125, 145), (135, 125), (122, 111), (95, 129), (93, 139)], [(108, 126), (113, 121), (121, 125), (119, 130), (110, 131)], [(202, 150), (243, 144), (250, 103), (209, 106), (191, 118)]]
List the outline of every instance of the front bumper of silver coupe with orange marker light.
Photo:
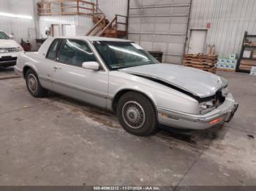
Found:
[(207, 114), (187, 114), (157, 107), (158, 121), (162, 125), (174, 128), (206, 129), (232, 120), (238, 104), (232, 94), (228, 94), (225, 102)]

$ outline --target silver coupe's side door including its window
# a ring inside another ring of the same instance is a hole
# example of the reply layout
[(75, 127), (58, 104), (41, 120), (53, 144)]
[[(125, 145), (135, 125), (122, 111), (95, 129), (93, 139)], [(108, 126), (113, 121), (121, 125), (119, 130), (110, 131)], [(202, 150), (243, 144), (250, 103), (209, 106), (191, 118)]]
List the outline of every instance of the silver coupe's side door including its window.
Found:
[(72, 98), (105, 107), (108, 71), (82, 68), (83, 62), (97, 61), (89, 44), (78, 39), (63, 39), (53, 66), (53, 89)]

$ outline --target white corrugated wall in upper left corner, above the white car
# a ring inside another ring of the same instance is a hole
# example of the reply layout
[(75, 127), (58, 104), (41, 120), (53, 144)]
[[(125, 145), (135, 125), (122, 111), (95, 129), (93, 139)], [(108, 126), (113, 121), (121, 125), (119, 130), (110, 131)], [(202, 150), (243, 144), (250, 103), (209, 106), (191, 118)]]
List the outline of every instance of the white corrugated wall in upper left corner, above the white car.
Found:
[(34, 20), (34, 0), (0, 0), (0, 12), (16, 15), (30, 15), (33, 19), (0, 16), (0, 29), (7, 34), (13, 34), (15, 41), (29, 40), (32, 48), (35, 46), (36, 26)]

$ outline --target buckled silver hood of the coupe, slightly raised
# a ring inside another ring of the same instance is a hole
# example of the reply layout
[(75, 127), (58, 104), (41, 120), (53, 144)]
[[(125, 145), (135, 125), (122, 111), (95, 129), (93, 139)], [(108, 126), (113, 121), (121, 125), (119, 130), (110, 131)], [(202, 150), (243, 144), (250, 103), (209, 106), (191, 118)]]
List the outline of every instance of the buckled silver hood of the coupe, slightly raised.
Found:
[(200, 98), (215, 95), (219, 89), (227, 85), (226, 79), (215, 74), (170, 63), (135, 66), (119, 71), (157, 79)]

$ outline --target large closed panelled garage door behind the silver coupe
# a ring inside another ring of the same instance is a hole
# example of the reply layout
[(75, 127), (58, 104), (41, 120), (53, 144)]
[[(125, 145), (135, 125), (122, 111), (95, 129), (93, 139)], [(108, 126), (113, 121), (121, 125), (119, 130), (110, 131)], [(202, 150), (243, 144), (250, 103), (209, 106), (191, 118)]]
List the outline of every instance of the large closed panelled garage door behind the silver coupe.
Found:
[(191, 0), (131, 0), (129, 39), (164, 52), (163, 61), (181, 64)]

